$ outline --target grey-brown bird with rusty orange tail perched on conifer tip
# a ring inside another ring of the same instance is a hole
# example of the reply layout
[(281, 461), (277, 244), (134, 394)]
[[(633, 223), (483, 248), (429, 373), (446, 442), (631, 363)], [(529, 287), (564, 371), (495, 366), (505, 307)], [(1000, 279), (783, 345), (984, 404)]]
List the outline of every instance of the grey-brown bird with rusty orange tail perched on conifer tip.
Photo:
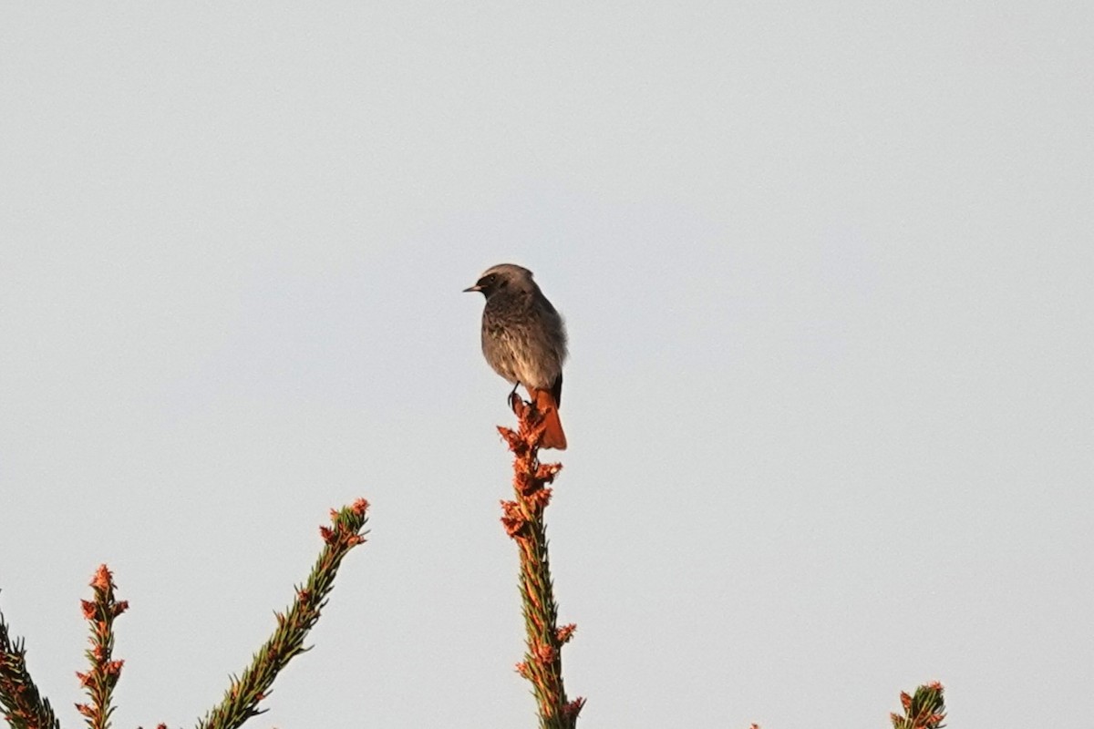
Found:
[(464, 293), (479, 292), (482, 308), (482, 355), (493, 371), (513, 384), (510, 402), (523, 385), (543, 415), (543, 448), (566, 450), (558, 416), (562, 401), (562, 363), (567, 357), (566, 322), (532, 278), (514, 263), (488, 268)]

